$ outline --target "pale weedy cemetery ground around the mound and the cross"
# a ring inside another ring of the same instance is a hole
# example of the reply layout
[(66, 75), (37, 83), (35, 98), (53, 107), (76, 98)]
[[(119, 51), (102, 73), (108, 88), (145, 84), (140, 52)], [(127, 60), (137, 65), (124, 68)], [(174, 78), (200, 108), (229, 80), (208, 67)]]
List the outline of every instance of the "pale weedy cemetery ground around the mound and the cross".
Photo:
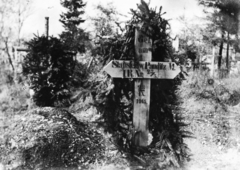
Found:
[[(182, 170), (237, 170), (240, 167), (240, 77), (216, 79), (213, 85), (207, 83), (207, 77), (200, 73), (190, 73), (179, 87), (181, 109), (187, 127), (194, 138), (185, 139), (191, 150), (191, 159)], [(89, 99), (90, 100), (90, 99)], [(94, 108), (88, 108), (88, 102), (77, 101), (69, 111), (83, 122), (89, 122), (93, 130), (93, 138), (103, 134), (104, 155), (99, 162), (90, 163), (88, 169), (93, 170), (134, 170), (146, 169), (144, 159), (129, 159), (117, 152), (105, 134), (95, 126), (98, 117)], [(0, 140), (4, 144), (4, 135), (8, 129), (22, 119), (31, 108), (28, 89), (23, 84), (0, 85)], [(27, 114), (26, 118), (31, 118)], [(17, 124), (16, 124), (17, 126)], [(18, 127), (20, 128), (20, 127)], [(96, 136), (94, 136), (96, 134)], [(85, 134), (86, 135), (86, 134)], [(91, 135), (89, 135), (91, 137)], [(100, 139), (99, 138), (99, 139)], [(98, 141), (99, 142), (99, 141)], [(95, 145), (94, 145), (95, 146)], [(96, 151), (97, 149), (95, 149)], [(1, 153), (2, 155), (2, 153)], [(101, 159), (100, 159), (101, 158)], [(15, 160), (16, 161), (16, 160)], [(17, 162), (17, 161), (16, 161)], [(16, 163), (17, 164), (17, 163)], [(73, 169), (74, 168), (49, 168)], [(75, 168), (77, 169), (77, 168)], [(84, 169), (84, 167), (82, 168)]]

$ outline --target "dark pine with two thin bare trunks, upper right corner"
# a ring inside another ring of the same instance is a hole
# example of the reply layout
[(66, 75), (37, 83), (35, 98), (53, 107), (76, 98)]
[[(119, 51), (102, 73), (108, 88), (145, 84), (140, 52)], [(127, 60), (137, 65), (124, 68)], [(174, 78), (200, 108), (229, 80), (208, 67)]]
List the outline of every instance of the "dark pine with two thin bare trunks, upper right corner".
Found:
[[(218, 68), (221, 68), (222, 51), (224, 42), (227, 42), (226, 67), (229, 67), (229, 45), (230, 35), (236, 35), (238, 32), (238, 15), (240, 11), (240, 2), (238, 0), (199, 0), (201, 5), (211, 8), (208, 17), (209, 27), (215, 28), (221, 35), (219, 44)], [(213, 29), (211, 29), (213, 30)]]

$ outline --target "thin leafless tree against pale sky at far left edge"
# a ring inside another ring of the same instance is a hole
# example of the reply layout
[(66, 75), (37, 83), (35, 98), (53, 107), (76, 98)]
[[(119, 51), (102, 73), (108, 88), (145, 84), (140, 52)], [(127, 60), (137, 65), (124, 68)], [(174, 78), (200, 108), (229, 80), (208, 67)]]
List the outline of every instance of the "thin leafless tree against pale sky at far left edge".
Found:
[(11, 47), (15, 44), (20, 45), (21, 29), (30, 15), (31, 3), (32, 1), (24, 0), (0, 0), (0, 47), (4, 49), (13, 71), (15, 68), (10, 52)]

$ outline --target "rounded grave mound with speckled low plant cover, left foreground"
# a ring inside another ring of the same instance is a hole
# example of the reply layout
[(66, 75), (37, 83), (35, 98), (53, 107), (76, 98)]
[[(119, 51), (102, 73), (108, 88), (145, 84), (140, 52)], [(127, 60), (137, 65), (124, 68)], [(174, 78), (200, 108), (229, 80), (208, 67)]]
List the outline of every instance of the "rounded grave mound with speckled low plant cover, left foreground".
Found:
[(1, 161), (12, 169), (87, 166), (104, 157), (104, 138), (66, 110), (36, 108), (15, 116), (1, 142)]

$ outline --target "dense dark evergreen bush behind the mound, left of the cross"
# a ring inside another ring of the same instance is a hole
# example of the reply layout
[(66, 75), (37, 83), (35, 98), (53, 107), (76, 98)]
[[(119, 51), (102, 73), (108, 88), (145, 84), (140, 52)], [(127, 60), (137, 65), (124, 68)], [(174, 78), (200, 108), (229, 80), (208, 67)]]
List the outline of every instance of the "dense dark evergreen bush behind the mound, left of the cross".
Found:
[(30, 79), (37, 106), (69, 106), (75, 59), (54, 37), (35, 36), (26, 43), (30, 50), (23, 61), (23, 74)]

